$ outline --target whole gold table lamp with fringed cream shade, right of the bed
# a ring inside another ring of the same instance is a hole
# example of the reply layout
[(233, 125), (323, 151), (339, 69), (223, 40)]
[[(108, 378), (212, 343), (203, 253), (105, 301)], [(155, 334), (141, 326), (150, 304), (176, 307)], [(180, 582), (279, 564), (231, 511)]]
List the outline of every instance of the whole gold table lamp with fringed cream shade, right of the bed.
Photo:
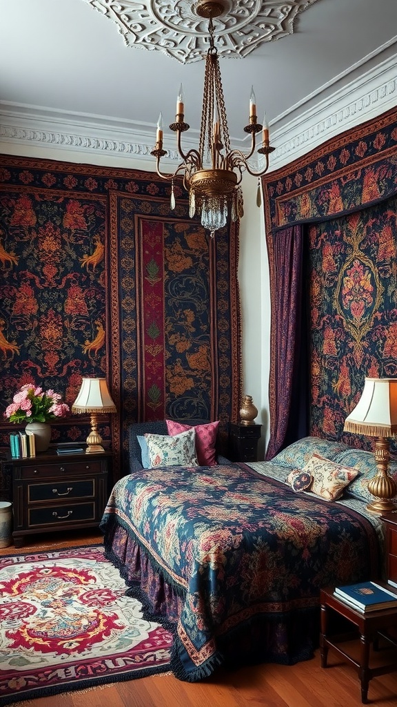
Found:
[(364, 390), (348, 417), (345, 432), (375, 437), (374, 457), (377, 474), (368, 482), (369, 492), (376, 500), (367, 506), (372, 513), (397, 510), (391, 500), (397, 484), (388, 474), (389, 437), (397, 437), (397, 378), (365, 378)]

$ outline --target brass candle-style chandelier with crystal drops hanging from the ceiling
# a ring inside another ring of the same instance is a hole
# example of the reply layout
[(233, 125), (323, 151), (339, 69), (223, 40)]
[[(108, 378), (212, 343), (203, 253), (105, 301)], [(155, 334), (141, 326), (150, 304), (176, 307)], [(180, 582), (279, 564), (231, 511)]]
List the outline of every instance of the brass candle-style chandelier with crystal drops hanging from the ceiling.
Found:
[[(184, 153), (182, 149), (182, 133), (189, 130), (184, 122), (184, 96), (182, 84), (177, 97), (177, 113), (175, 122), (170, 129), (177, 133), (177, 150), (182, 158), (173, 174), (163, 174), (160, 171), (160, 158), (167, 154), (162, 148), (163, 122), (162, 114), (158, 119), (156, 144), (150, 154), (156, 158), (156, 170), (162, 179), (171, 180), (171, 208), (174, 209), (174, 177), (183, 173), (184, 187), (189, 192), (189, 216), (200, 214), (201, 224), (208, 228), (211, 237), (219, 228), (223, 228), (228, 220), (237, 221), (243, 216), (242, 175), (244, 171), (255, 177), (261, 177), (268, 170), (269, 154), (274, 148), (269, 145), (269, 131), (266, 114), (263, 125), (257, 122), (256, 98), (251, 88), (249, 98), (249, 124), (244, 132), (251, 134), (251, 149), (244, 155), (240, 150), (230, 149), (230, 136), (227, 127), (225, 100), (220, 76), (218, 50), (214, 43), (213, 18), (224, 12), (221, 0), (202, 0), (196, 5), (196, 13), (201, 18), (207, 18), (209, 33), (209, 48), (206, 55), (204, 74), (203, 107), (201, 111), (201, 127), (198, 150), (191, 149)], [(264, 156), (263, 168), (254, 171), (248, 160), (254, 154), (256, 134), (262, 132), (262, 144), (258, 153)], [(260, 194), (260, 192), (259, 192)], [(260, 201), (257, 203), (260, 204)]]

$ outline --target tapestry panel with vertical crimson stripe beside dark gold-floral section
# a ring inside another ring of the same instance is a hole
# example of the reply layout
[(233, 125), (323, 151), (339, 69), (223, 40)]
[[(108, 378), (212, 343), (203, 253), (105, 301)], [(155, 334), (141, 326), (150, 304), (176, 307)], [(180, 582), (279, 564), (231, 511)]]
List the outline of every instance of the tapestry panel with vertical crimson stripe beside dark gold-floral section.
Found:
[(237, 233), (208, 238), (184, 206), (172, 218), (158, 216), (163, 206), (153, 200), (146, 215), (139, 197), (112, 201), (124, 449), (136, 421), (220, 419), (226, 431), (240, 397)]

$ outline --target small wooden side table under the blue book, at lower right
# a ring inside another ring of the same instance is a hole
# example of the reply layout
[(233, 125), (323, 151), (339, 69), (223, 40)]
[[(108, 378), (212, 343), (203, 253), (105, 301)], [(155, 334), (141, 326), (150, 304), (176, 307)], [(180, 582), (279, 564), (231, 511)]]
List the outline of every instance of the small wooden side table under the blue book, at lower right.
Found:
[[(361, 701), (363, 704), (368, 702), (368, 686), (369, 680), (377, 675), (385, 675), (396, 670), (396, 661), (389, 665), (381, 665), (379, 667), (369, 667), (369, 648), (372, 641), (377, 641), (379, 633), (388, 638), (387, 632), (389, 629), (397, 627), (397, 609), (381, 609), (380, 611), (368, 612), (364, 614), (356, 611), (349, 604), (338, 599), (333, 594), (333, 588), (321, 590), (321, 634), (320, 634), (320, 655), (321, 667), (326, 667), (328, 648), (336, 650), (339, 655), (342, 655), (345, 660), (348, 660), (355, 666), (358, 672), (358, 677), (361, 683)], [(348, 619), (351, 624), (357, 626), (360, 633), (360, 658), (355, 660), (351, 655), (343, 650), (341, 645), (343, 641), (352, 638), (351, 634), (343, 636), (334, 636), (330, 633), (331, 629), (331, 614), (332, 610), (338, 612), (341, 616)], [(393, 639), (391, 643), (394, 643)]]

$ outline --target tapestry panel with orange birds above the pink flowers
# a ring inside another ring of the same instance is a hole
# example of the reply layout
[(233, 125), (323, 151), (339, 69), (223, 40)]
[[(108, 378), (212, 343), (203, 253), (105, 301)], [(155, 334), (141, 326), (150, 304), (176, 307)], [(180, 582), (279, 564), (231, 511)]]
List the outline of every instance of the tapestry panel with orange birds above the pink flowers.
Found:
[(101, 197), (3, 188), (1, 414), (25, 383), (71, 405), (82, 375), (104, 375), (105, 223)]

